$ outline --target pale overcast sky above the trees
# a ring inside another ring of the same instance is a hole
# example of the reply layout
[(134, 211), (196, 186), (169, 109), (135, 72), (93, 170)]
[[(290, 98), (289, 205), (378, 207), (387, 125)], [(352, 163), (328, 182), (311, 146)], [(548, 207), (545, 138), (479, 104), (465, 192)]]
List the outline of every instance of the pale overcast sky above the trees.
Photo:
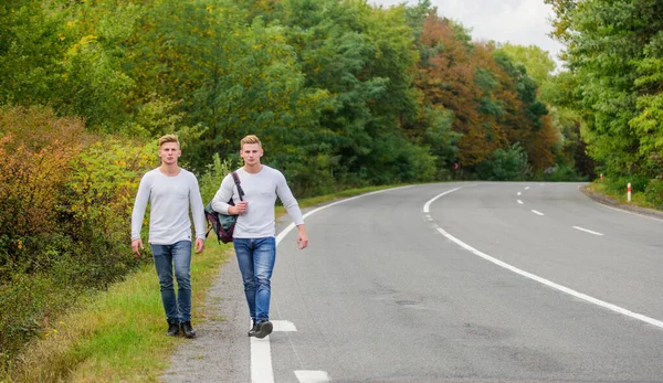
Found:
[[(383, 6), (403, 2), (415, 4), (417, 0), (368, 0), (369, 3)], [(558, 66), (557, 54), (562, 45), (548, 38), (552, 30), (550, 6), (544, 0), (431, 0), (443, 18), (460, 21), (472, 30), (472, 39), (518, 45), (537, 45), (550, 53)]]

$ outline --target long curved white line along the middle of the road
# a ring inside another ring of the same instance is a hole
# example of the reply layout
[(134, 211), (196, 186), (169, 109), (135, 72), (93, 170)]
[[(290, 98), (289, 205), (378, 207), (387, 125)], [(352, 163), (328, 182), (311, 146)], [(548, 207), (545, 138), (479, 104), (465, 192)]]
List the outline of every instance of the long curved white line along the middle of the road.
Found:
[[(431, 199), (429, 202), (427, 202), (427, 203), (423, 205), (423, 213), (425, 213), (425, 214), (429, 214), (429, 215), (430, 215), (430, 204), (431, 204), (431, 202), (432, 202), (432, 201), (435, 201), (435, 200), (436, 200), (436, 199), (439, 199), (440, 196), (442, 196), (442, 195), (445, 195), (445, 194), (449, 194), (449, 193), (451, 193), (451, 192), (453, 192), (453, 191), (456, 191), (456, 190), (459, 190), (459, 189), (461, 189), (461, 188), (457, 188), (457, 189), (453, 189), (453, 190), (446, 191), (446, 192), (444, 192), (444, 193), (442, 193), (442, 194), (439, 194), (439, 195), (434, 196), (433, 199)], [(548, 279), (546, 279), (546, 278), (539, 277), (538, 275), (535, 275), (535, 274), (532, 274), (532, 273), (528, 273), (528, 272), (522, 270), (522, 269), (519, 269), (519, 268), (517, 268), (517, 267), (515, 267), (515, 266), (512, 266), (512, 265), (509, 265), (509, 264), (507, 264), (507, 263), (505, 263), (505, 262), (502, 262), (502, 260), (499, 260), (499, 259), (497, 259), (497, 258), (494, 258), (494, 257), (492, 257), (492, 256), (490, 256), (490, 255), (487, 255), (487, 254), (485, 254), (485, 253), (482, 253), (481, 251), (478, 251), (478, 249), (476, 249), (476, 248), (474, 248), (474, 247), (472, 247), (472, 246), (467, 245), (467, 244), (466, 244), (466, 243), (464, 243), (463, 241), (461, 241), (461, 240), (459, 240), (459, 238), (454, 237), (453, 235), (449, 234), (446, 231), (444, 231), (444, 228), (440, 227), (438, 224), (433, 223), (433, 226), (435, 227), (435, 230), (436, 230), (436, 231), (438, 231), (440, 234), (444, 235), (444, 236), (445, 236), (448, 240), (450, 240), (451, 242), (453, 242), (453, 243), (455, 243), (456, 245), (459, 245), (459, 246), (463, 247), (464, 249), (469, 251), (470, 253), (472, 253), (472, 254), (474, 254), (474, 255), (476, 255), (476, 256), (478, 256), (478, 257), (481, 257), (481, 258), (484, 258), (484, 259), (486, 259), (486, 260), (488, 260), (488, 262), (491, 262), (491, 263), (493, 263), (493, 264), (495, 264), (495, 265), (497, 265), (497, 266), (499, 266), (499, 267), (506, 268), (506, 269), (507, 269), (507, 270), (509, 270), (509, 272), (513, 272), (513, 273), (516, 273), (516, 274), (518, 274), (518, 275), (522, 275), (522, 276), (524, 276), (525, 278), (528, 278), (528, 279), (532, 279), (532, 280), (538, 281), (538, 283), (539, 283), (539, 284), (541, 284), (541, 285), (545, 285), (545, 286), (548, 286), (548, 287), (550, 287), (550, 288), (554, 288), (554, 289), (556, 289), (556, 290), (558, 290), (558, 291), (561, 291), (561, 292), (568, 294), (568, 295), (570, 295), (570, 296), (572, 296), (572, 297), (576, 297), (576, 298), (578, 298), (578, 299), (582, 299), (582, 300), (585, 300), (585, 301), (588, 301), (588, 302), (590, 302), (590, 304), (593, 304), (593, 305), (600, 306), (600, 307), (602, 307), (602, 308), (606, 308), (606, 309), (608, 309), (608, 310), (611, 310), (611, 311), (614, 311), (614, 312), (621, 313), (621, 315), (623, 315), (623, 316), (627, 316), (627, 317), (630, 317), (630, 318), (633, 318), (633, 319), (638, 319), (638, 320), (640, 320), (640, 321), (643, 321), (643, 322), (645, 322), (645, 323), (649, 323), (649, 325), (655, 326), (655, 327), (657, 327), (657, 328), (660, 328), (660, 329), (663, 329), (663, 321), (661, 321), (661, 320), (657, 320), (657, 319), (654, 319), (654, 318), (650, 318), (650, 317), (643, 316), (643, 315), (641, 315), (641, 313), (638, 313), (638, 312), (630, 311), (630, 310), (628, 310), (628, 309), (625, 309), (625, 308), (622, 308), (622, 307), (619, 307), (619, 306), (617, 306), (617, 305), (609, 304), (609, 302), (607, 302), (607, 301), (603, 301), (603, 300), (600, 300), (600, 299), (597, 299), (597, 298), (590, 297), (590, 296), (588, 296), (588, 295), (586, 295), (586, 294), (582, 294), (582, 292), (576, 291), (576, 290), (573, 290), (573, 289), (570, 289), (570, 288), (568, 288), (568, 287), (566, 287), (566, 286), (562, 286), (562, 285), (556, 284), (556, 283), (554, 283), (554, 281), (551, 281), (551, 280), (548, 280)]]

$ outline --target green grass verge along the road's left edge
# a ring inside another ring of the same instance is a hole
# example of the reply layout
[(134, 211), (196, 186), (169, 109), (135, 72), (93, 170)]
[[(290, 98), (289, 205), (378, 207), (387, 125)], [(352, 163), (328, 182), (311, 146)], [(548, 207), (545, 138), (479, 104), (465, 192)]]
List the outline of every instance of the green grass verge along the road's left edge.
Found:
[[(341, 198), (391, 187), (347, 190), (305, 199), (305, 209)], [(280, 206), (277, 215), (284, 214)], [(207, 291), (220, 267), (232, 256), (230, 245), (210, 236), (207, 248), (191, 262), (193, 320), (210, 320), (204, 312)], [(44, 329), (0, 383), (13, 382), (158, 382), (175, 348), (188, 341), (166, 337), (166, 319), (154, 266), (148, 265), (115, 284), (107, 291), (87, 297), (69, 315)]]

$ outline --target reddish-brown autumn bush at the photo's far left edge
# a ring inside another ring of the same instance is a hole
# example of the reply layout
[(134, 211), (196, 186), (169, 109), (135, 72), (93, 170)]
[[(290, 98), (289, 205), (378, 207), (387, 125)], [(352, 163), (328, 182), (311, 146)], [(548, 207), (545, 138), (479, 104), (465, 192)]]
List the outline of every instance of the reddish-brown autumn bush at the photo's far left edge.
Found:
[(31, 272), (27, 243), (57, 230), (57, 195), (85, 139), (83, 121), (43, 107), (0, 108), (0, 278)]

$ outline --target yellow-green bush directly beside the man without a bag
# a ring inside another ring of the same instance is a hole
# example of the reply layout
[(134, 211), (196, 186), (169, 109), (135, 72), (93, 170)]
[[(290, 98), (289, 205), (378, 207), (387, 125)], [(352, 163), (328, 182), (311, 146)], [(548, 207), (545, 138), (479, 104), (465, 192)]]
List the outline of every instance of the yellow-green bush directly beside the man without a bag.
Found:
[(140, 178), (157, 166), (156, 150), (154, 142), (137, 146), (108, 138), (86, 147), (72, 161), (61, 192), (61, 226), (73, 241), (99, 247), (80, 255), (93, 268), (84, 277), (93, 286), (124, 275), (135, 263), (125, 247), (130, 243), (127, 227)]

